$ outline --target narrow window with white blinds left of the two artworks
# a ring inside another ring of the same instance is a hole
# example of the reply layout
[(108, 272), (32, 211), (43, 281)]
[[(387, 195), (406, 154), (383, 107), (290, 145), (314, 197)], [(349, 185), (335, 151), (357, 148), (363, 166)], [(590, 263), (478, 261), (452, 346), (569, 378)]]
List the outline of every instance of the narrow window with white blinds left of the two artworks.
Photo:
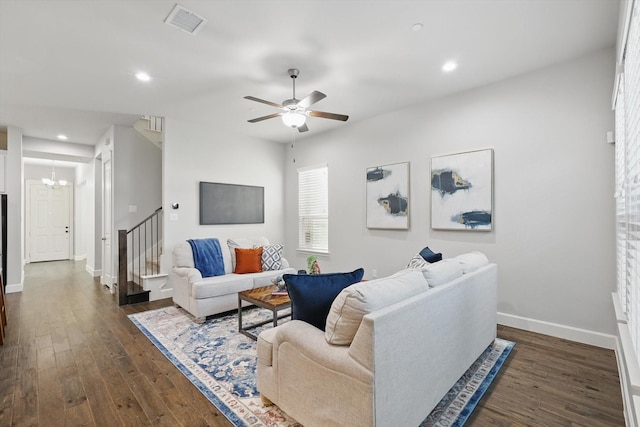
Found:
[(298, 169), (298, 250), (329, 252), (329, 169)]

